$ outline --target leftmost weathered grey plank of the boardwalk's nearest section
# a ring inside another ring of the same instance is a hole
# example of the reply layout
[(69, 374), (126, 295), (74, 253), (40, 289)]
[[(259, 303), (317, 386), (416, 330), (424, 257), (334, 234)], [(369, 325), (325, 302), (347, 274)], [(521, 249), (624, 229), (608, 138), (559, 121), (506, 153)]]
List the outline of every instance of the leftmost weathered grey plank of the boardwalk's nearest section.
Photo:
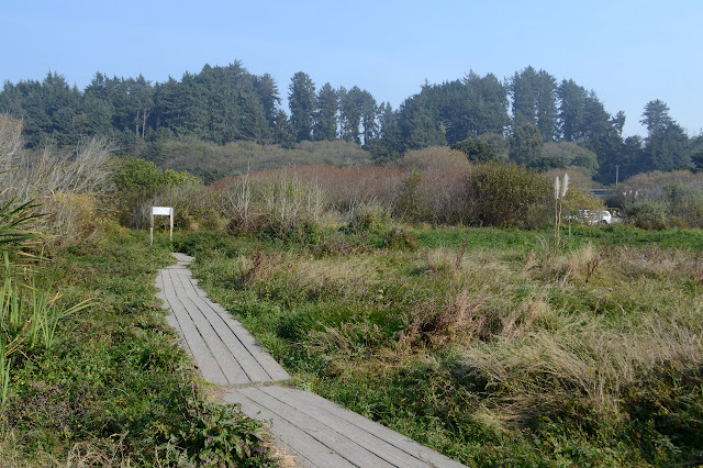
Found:
[(241, 390), (233, 390), (227, 392), (224, 397), (224, 401), (227, 403), (236, 403), (242, 406), (242, 412), (249, 417), (255, 417), (260, 421), (270, 421), (271, 432), (280, 437), (294, 455), (299, 455), (298, 460), (301, 465), (306, 467), (319, 468), (347, 468), (354, 467), (354, 465), (339, 456), (330, 447), (316, 441), (310, 434), (291, 424), (287, 420), (280, 417), (274, 411), (267, 409), (248, 395), (244, 394)]

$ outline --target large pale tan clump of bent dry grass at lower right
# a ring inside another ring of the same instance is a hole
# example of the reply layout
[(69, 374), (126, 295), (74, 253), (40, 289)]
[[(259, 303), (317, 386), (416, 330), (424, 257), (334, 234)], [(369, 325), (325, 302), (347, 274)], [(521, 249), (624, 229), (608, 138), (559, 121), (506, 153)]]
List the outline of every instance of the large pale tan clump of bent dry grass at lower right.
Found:
[(662, 325), (633, 333), (591, 320), (585, 327), (573, 322), (560, 332), (496, 337), (466, 348), (460, 374), (482, 381), (487, 401), (518, 423), (590, 412), (617, 420), (625, 386), (665, 363), (703, 361), (700, 331)]

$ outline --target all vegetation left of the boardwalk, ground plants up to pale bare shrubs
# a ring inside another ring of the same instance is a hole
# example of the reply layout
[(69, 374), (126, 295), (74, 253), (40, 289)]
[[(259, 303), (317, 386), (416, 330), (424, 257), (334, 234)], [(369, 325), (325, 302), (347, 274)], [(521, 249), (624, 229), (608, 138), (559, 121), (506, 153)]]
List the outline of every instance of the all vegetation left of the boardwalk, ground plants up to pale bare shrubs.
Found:
[(16, 129), (0, 129), (16, 165), (0, 174), (0, 465), (274, 466), (261, 423), (205, 398), (163, 317), (171, 246), (112, 221), (110, 200), (192, 177), (96, 140), (34, 159)]

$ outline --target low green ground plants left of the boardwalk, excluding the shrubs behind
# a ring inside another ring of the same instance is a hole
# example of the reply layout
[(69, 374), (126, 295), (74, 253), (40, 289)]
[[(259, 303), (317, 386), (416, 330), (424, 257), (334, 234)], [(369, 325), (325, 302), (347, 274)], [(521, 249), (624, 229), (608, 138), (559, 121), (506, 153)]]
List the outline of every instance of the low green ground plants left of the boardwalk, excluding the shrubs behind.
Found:
[[(60, 297), (40, 301), (53, 314), (53, 339), (32, 346), (33, 328), (14, 339), (20, 347), (12, 353), (0, 412), (1, 465), (207, 465), (249, 456), (252, 466), (268, 463), (260, 423), (203, 399), (158, 310), (153, 282), (171, 261), (169, 250), (165, 244), (149, 248), (144, 233), (115, 230), (100, 244), (70, 247), (34, 267), (51, 275)], [(40, 312), (36, 294), (48, 292), (40, 285), (30, 285), (30, 313)], [(3, 333), (11, 330), (3, 325)], [(217, 428), (222, 424), (225, 432)]]

